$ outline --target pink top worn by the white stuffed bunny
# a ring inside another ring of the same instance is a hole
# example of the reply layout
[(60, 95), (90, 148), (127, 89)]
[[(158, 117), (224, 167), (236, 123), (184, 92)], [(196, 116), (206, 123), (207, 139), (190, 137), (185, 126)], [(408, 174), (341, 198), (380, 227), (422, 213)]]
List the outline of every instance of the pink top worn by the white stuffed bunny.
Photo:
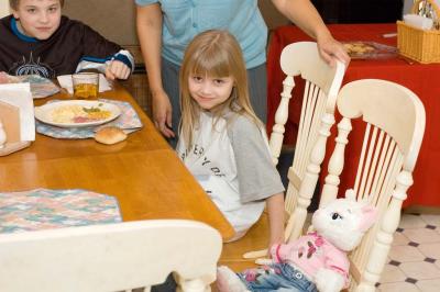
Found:
[(345, 251), (317, 233), (309, 233), (287, 245), (275, 245), (271, 248), (271, 252), (274, 261), (293, 265), (309, 279), (314, 279), (319, 269), (326, 268), (341, 273), (345, 279), (345, 285), (349, 282), (350, 261)]

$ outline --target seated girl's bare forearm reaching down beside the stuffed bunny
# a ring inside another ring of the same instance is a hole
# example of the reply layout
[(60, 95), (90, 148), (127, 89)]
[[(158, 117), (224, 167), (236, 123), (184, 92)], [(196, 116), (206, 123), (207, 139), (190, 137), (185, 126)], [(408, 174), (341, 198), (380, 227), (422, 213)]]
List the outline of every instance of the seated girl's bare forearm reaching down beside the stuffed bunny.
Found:
[(266, 199), (271, 238), (268, 249), (275, 244), (284, 244), (284, 193)]

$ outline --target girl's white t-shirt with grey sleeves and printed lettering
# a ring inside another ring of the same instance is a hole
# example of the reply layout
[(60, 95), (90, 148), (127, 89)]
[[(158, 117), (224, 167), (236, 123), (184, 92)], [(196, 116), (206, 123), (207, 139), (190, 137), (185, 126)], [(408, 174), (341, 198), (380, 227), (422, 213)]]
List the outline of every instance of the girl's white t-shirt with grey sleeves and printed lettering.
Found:
[(180, 139), (177, 151), (234, 227), (233, 239), (238, 239), (258, 220), (264, 200), (283, 192), (284, 187), (263, 128), (232, 112), (217, 121), (201, 112), (199, 122), (193, 147), (186, 149)]

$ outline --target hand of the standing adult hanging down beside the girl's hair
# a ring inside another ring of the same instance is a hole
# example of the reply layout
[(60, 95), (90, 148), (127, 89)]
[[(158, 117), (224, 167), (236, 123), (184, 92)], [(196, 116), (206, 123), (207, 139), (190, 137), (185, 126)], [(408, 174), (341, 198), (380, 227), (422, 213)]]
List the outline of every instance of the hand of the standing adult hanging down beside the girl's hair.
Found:
[(153, 93), (153, 122), (162, 135), (167, 138), (174, 137), (172, 127), (172, 104), (165, 91)]

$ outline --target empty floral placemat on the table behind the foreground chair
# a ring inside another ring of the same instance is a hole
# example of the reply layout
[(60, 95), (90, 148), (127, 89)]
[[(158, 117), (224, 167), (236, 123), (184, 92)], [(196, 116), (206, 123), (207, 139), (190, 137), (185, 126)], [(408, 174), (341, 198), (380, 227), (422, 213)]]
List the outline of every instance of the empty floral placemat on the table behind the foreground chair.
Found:
[(114, 196), (88, 190), (35, 189), (0, 193), (0, 233), (121, 222)]

